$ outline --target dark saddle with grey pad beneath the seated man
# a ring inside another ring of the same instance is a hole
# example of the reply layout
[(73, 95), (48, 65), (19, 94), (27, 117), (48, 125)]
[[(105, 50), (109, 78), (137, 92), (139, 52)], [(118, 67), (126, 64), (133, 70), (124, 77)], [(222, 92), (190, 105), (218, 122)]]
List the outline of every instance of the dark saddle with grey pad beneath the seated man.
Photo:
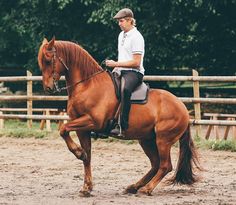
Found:
[[(120, 72), (110, 72), (107, 71), (112, 79), (115, 93), (118, 101), (121, 98), (121, 73)], [(149, 86), (146, 83), (142, 83), (139, 85), (131, 95), (130, 102), (132, 104), (145, 104), (148, 99), (148, 90)]]

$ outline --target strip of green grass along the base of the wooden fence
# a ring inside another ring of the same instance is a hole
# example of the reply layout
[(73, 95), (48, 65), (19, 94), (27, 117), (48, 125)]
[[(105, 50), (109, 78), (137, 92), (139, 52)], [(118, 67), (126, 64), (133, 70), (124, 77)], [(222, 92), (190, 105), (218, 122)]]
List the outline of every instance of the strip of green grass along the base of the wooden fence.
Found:
[[(16, 137), (16, 138), (46, 138), (46, 137), (59, 137), (59, 132), (56, 123), (51, 123), (52, 131), (48, 132), (46, 130), (39, 129), (40, 123), (33, 122), (33, 127), (31, 129), (27, 128), (26, 121), (19, 120), (5, 120), (4, 129), (0, 130), (0, 137)], [(73, 132), (74, 136), (75, 133)], [(106, 138), (97, 139), (103, 142), (121, 142), (124, 144), (134, 144), (138, 143), (136, 140), (120, 140), (116, 138)], [(234, 140), (205, 140), (201, 137), (194, 137), (194, 142), (197, 147), (201, 149), (211, 149), (211, 150), (224, 150), (236, 152), (236, 141)], [(174, 145), (178, 147), (178, 143)]]

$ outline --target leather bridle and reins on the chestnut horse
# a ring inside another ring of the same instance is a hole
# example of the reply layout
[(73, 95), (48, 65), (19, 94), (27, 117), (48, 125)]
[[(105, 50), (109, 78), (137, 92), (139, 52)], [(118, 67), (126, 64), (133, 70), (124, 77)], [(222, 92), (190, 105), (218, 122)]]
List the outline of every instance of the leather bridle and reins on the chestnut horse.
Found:
[(59, 62), (66, 68), (67, 71), (69, 71), (69, 67), (65, 64), (64, 60), (60, 57), (60, 56), (57, 56), (57, 53), (56, 53), (56, 48), (55, 47), (52, 47), (52, 49), (50, 51), (47, 51), (47, 52), (52, 52), (53, 53), (53, 56), (52, 56), (52, 60), (51, 60), (51, 64), (52, 64), (52, 69), (53, 69), (53, 73), (52, 73), (52, 77), (53, 77), (53, 85), (54, 85), (54, 88), (55, 90), (53, 90), (53, 93), (60, 93), (62, 92), (63, 90), (67, 90), (68, 88), (71, 88), (71, 87), (74, 87), (80, 83), (83, 83), (87, 80), (89, 80), (90, 78), (94, 77), (95, 75), (98, 75), (100, 73), (103, 73), (105, 72), (106, 70), (102, 69), (102, 70), (99, 70), (95, 73), (93, 73), (92, 75), (90, 75), (89, 77), (83, 79), (83, 80), (80, 80), (78, 82), (75, 82), (74, 84), (72, 85), (68, 85), (68, 86), (65, 86), (65, 87), (59, 87), (58, 85), (58, 72), (56, 72), (56, 60), (58, 59)]

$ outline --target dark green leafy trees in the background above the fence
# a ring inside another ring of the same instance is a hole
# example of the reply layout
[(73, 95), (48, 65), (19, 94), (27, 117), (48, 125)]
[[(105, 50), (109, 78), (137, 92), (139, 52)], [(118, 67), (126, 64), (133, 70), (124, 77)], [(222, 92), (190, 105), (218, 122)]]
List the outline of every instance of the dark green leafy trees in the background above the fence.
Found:
[(44, 37), (78, 42), (98, 61), (116, 59), (112, 16), (134, 11), (146, 43), (146, 74), (235, 75), (236, 0), (2, 0), (0, 67), (39, 73)]

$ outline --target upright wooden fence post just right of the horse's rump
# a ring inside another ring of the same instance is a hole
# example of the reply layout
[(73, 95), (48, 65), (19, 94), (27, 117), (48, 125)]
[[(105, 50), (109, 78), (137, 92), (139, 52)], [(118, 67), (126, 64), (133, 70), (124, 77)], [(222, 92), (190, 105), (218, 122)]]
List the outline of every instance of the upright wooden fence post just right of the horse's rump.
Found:
[[(193, 77), (198, 76), (196, 70), (192, 70)], [(193, 81), (193, 97), (200, 98), (199, 81)], [(194, 103), (195, 120), (201, 120), (201, 105)], [(196, 125), (196, 136), (201, 136), (201, 125)]]

